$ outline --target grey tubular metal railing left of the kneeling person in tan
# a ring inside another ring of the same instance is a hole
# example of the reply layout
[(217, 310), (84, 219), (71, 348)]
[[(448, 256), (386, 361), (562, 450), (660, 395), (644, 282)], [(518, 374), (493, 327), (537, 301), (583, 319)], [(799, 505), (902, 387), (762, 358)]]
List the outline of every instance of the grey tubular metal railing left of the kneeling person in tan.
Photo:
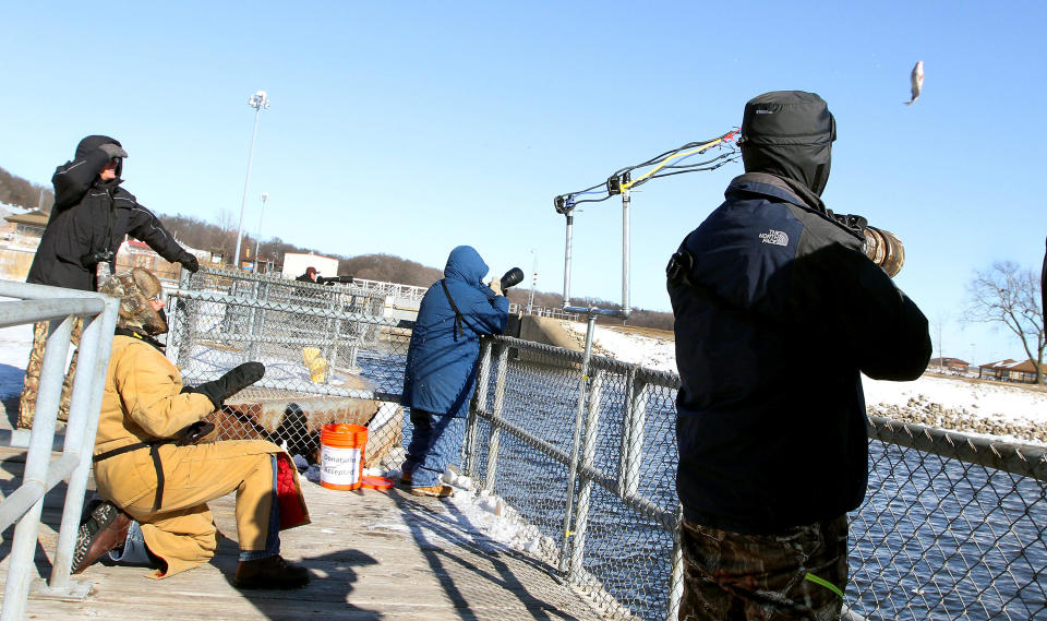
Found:
[[(0, 302), (0, 327), (50, 321), (51, 331), (44, 349), (36, 415), (31, 431), (2, 431), (0, 438), (11, 446), (27, 447), (22, 485), (0, 502), (0, 529), (17, 523), (8, 581), (3, 590), (0, 619), (22, 619), (31, 586), (34, 586), (37, 536), (44, 495), (68, 480), (58, 545), (51, 564), (50, 581), (38, 584), (37, 593), (51, 599), (83, 600), (91, 588), (86, 581), (70, 578), (73, 547), (83, 510), (91, 456), (98, 428), (98, 414), (106, 386), (106, 370), (119, 301), (100, 294), (76, 291), (0, 280), (0, 296), (16, 301)], [(79, 363), (70, 398), (61, 455), (51, 461), (55, 427), (65, 375), (75, 318), (83, 321)], [(28, 438), (26, 438), (26, 434)]]

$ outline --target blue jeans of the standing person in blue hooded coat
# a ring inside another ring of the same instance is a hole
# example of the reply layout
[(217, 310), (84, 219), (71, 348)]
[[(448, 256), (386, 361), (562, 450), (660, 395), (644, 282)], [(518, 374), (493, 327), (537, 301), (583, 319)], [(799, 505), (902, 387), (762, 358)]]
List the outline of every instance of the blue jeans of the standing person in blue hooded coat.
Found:
[(411, 475), (411, 487), (428, 488), (440, 485), (447, 464), (461, 456), (466, 435), (466, 417), (433, 414), (411, 408), (413, 432), (407, 446), (404, 474)]

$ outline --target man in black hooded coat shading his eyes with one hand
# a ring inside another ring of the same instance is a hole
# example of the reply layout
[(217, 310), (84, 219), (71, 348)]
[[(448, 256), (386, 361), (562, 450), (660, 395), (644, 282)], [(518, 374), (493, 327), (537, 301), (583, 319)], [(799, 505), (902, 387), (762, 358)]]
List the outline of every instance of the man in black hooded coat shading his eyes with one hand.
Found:
[[(115, 272), (117, 250), (128, 235), (141, 239), (167, 261), (181, 263), (190, 272), (200, 268), (196, 258), (174, 241), (160, 220), (120, 187), (127, 156), (128, 152), (116, 139), (89, 135), (76, 145), (73, 159), (55, 170), (51, 177), (55, 205), (26, 283), (97, 290), (101, 285), (97, 278), (99, 264), (104, 276)], [(32, 427), (36, 411), (47, 330), (47, 322), (34, 326), (33, 351), (25, 369), (19, 409), (19, 426), (23, 428)], [(77, 325), (74, 338), (79, 333)], [(62, 390), (61, 420), (68, 416), (75, 369), (76, 359), (73, 358)]]

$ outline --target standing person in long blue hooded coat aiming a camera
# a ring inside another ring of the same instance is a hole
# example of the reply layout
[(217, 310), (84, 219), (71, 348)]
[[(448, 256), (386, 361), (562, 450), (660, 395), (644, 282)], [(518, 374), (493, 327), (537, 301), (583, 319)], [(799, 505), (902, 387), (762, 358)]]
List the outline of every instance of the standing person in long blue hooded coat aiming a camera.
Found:
[(472, 247), (455, 248), (444, 278), (425, 291), (418, 309), (402, 402), (411, 410), (413, 434), (400, 477), (413, 495), (454, 494), (440, 477), (461, 452), (480, 337), (501, 334), (509, 315), (509, 300), (497, 279), (483, 284), (486, 273), (486, 263)]

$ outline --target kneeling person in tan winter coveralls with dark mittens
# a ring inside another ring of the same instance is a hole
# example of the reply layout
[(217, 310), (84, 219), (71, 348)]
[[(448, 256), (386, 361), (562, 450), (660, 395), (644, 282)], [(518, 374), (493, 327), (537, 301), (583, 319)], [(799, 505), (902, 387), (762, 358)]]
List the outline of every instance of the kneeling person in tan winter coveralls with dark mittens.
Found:
[(309, 523), (290, 457), (264, 440), (193, 444), (201, 419), (265, 368), (248, 362), (220, 379), (184, 386), (153, 338), (167, 330), (159, 280), (135, 267), (103, 292), (121, 298), (95, 440), (95, 480), (104, 499), (88, 507), (73, 557), (79, 573), (105, 553), (167, 577), (210, 559), (218, 544), (207, 501), (237, 492), (240, 588), (297, 588), (304, 568), (279, 556), (279, 530)]

